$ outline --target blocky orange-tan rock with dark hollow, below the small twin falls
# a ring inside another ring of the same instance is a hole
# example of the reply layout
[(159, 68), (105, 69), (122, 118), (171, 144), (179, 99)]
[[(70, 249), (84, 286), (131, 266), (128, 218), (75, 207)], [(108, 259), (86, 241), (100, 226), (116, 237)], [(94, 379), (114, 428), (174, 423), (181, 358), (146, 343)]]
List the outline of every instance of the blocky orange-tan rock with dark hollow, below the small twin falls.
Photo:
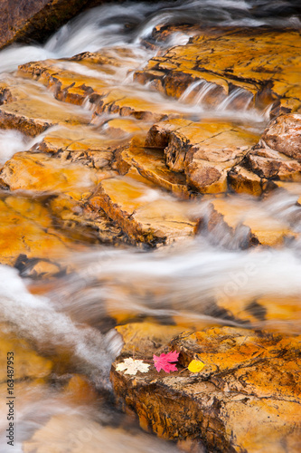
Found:
[(215, 193), (227, 190), (228, 172), (257, 140), (230, 123), (168, 120), (149, 130), (146, 146), (165, 147), (170, 169), (183, 171), (194, 190)]

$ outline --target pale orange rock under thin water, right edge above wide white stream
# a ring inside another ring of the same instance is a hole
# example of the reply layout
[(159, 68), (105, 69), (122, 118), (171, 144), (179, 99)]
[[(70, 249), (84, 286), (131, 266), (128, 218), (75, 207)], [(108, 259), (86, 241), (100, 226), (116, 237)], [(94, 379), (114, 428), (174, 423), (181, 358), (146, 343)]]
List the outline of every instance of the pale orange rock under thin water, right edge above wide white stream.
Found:
[(218, 198), (211, 201), (202, 227), (214, 241), (228, 246), (280, 246), (296, 237), (289, 225), (267, 214), (249, 199)]

